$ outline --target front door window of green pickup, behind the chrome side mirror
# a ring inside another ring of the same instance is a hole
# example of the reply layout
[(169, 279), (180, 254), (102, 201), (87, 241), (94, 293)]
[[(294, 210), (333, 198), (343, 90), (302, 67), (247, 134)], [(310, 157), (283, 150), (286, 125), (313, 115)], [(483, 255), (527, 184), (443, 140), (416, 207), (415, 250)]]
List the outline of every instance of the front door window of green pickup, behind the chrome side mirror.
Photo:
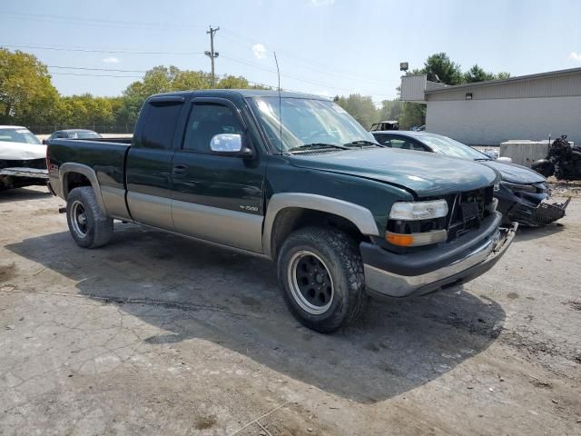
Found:
[(193, 104), (183, 150), (208, 153), (210, 141), (216, 134), (242, 133), (242, 126), (230, 107), (213, 103)]

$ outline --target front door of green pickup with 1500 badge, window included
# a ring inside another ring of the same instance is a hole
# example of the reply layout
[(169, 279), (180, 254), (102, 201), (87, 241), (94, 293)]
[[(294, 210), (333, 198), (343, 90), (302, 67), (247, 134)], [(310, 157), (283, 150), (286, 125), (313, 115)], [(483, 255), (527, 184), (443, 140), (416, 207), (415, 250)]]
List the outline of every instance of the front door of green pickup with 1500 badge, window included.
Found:
[[(173, 156), (172, 217), (176, 231), (244, 250), (262, 250), (265, 164), (256, 139), (230, 100), (199, 97), (189, 107), (181, 147)], [(241, 134), (251, 158), (214, 154), (216, 134)]]

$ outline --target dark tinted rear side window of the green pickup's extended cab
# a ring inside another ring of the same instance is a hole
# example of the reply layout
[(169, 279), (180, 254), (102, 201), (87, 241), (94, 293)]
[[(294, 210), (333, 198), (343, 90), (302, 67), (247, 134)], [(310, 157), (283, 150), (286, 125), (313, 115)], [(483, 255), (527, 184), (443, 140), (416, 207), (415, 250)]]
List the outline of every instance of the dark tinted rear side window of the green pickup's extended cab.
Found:
[(172, 148), (175, 124), (182, 104), (148, 104), (143, 124), (142, 147), (168, 150)]

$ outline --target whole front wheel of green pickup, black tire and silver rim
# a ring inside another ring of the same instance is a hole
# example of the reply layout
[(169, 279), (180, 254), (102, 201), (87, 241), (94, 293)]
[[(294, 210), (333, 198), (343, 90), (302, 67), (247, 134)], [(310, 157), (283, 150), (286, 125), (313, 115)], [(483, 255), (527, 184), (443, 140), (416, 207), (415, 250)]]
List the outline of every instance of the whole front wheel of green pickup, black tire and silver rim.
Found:
[(277, 271), (291, 313), (317, 332), (335, 332), (355, 321), (367, 303), (359, 247), (338, 229), (291, 233), (282, 244)]

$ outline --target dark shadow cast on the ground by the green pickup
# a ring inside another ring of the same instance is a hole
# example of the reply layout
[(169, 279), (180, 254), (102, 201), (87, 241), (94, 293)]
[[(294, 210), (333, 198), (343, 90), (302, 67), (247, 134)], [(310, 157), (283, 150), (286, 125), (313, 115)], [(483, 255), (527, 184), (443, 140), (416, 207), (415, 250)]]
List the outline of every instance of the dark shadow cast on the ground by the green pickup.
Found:
[(6, 248), (163, 329), (148, 344), (212, 341), (352, 401), (382, 401), (438, 379), (485, 350), (505, 320), (497, 302), (453, 287), (372, 301), (355, 325), (322, 335), (291, 317), (272, 263), (132, 224), (115, 230), (100, 250), (78, 248), (68, 233)]

